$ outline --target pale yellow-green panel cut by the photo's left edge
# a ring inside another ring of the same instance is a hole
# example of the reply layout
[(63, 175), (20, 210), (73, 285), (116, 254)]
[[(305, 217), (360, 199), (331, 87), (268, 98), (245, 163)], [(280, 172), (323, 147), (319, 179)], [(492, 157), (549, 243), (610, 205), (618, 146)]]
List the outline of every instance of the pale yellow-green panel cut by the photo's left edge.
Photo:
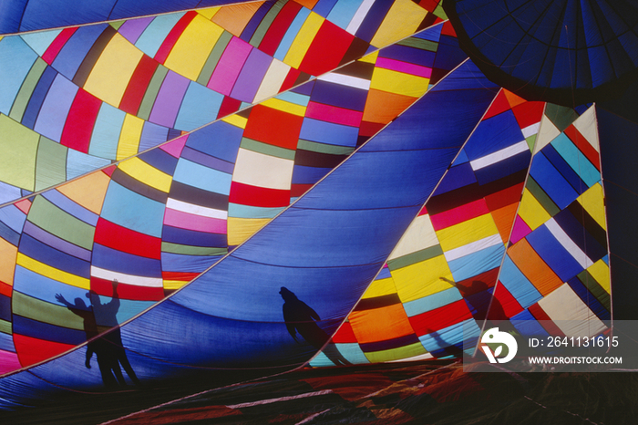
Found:
[(0, 114), (0, 134), (0, 181), (33, 192), (40, 136), (4, 114)]

